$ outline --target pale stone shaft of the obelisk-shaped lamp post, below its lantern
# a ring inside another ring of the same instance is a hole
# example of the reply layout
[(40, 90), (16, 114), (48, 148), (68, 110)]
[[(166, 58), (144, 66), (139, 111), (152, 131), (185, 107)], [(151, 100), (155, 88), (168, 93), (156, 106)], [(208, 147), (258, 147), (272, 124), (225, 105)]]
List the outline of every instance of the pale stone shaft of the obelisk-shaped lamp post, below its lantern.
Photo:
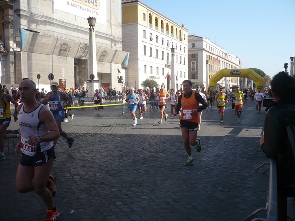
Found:
[[(97, 62), (96, 62), (96, 42), (95, 42), (95, 30), (94, 27), (89, 28), (89, 55), (88, 55), (88, 79), (90, 78), (89, 76), (91, 74), (94, 74), (95, 78), (94, 80), (97, 80)], [(99, 83), (98, 83), (98, 88), (99, 88)], [(91, 97), (94, 94), (94, 88), (93, 84), (91, 84), (91, 93), (89, 94)]]

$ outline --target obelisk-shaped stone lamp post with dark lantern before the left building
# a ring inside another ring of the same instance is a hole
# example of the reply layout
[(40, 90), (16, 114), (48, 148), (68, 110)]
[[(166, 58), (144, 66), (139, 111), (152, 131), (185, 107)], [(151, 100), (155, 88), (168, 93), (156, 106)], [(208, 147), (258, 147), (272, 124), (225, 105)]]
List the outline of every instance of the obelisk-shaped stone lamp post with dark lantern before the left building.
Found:
[[(90, 26), (89, 28), (89, 55), (88, 55), (88, 74), (93, 74), (94, 76), (97, 76), (97, 62), (96, 62), (96, 41), (95, 41), (95, 30), (94, 26), (96, 23), (95, 17), (89, 17), (87, 18), (88, 24)], [(98, 83), (99, 88), (99, 83)], [(91, 96), (93, 96), (93, 85), (91, 88)]]

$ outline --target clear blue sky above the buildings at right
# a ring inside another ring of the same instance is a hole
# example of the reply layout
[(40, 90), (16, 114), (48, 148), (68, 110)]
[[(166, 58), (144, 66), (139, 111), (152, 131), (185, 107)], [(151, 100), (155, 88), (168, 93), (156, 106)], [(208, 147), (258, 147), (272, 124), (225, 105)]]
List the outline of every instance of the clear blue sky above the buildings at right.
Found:
[(295, 56), (295, 0), (139, 0), (272, 77)]

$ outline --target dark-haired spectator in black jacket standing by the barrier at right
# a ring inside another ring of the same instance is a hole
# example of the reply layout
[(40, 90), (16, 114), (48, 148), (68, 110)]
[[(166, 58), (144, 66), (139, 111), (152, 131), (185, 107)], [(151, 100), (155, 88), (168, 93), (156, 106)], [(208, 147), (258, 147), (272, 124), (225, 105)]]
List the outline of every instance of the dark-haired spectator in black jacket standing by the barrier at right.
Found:
[(287, 197), (295, 196), (295, 159), (287, 135), (285, 117), (295, 121), (295, 83), (279, 72), (270, 83), (274, 105), (266, 109), (264, 136), (260, 139), (266, 157), (277, 162), (278, 221), (287, 221)]

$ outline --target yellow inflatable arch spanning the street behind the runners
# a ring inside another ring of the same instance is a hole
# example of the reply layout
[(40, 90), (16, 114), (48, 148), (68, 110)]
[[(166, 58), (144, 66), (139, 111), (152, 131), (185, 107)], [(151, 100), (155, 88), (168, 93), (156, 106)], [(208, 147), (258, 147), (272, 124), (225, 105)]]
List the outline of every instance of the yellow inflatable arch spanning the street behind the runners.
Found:
[(223, 77), (247, 77), (252, 79), (256, 85), (256, 91), (264, 90), (263, 78), (252, 69), (222, 69), (214, 74), (209, 81), (209, 88), (216, 90), (216, 83)]

